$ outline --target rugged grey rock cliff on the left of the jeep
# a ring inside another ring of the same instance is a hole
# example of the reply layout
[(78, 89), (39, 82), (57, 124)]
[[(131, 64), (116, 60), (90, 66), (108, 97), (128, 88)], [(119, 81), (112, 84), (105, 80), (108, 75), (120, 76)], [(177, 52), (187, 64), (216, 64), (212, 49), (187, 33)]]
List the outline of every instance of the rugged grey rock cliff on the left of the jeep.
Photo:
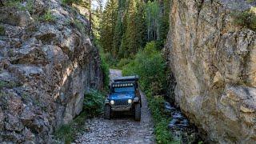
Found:
[(50, 142), (102, 87), (88, 22), (58, 0), (0, 7), (0, 142)]

